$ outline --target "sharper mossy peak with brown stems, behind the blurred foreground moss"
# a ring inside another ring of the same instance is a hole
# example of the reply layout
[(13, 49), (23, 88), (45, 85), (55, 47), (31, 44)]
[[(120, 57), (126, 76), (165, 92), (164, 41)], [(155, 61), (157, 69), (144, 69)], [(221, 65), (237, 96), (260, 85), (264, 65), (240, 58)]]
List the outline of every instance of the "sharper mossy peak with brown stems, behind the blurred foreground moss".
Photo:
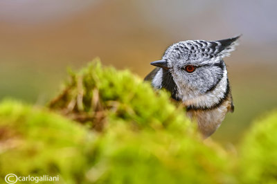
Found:
[(150, 84), (129, 71), (103, 68), (99, 61), (77, 73), (70, 72), (64, 91), (49, 107), (78, 122), (88, 122), (98, 131), (117, 120), (124, 120), (133, 129), (190, 126), (184, 109), (170, 102), (168, 93), (153, 91)]

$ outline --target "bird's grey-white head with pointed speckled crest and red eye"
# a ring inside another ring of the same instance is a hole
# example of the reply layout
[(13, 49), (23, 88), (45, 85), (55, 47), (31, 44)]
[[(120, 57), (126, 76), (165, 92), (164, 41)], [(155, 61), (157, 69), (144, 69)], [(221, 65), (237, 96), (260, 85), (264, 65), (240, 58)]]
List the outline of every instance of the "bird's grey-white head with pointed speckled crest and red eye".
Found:
[(151, 64), (170, 73), (180, 93), (194, 98), (213, 90), (222, 77), (227, 77), (222, 58), (235, 49), (238, 38), (172, 44), (161, 60)]

